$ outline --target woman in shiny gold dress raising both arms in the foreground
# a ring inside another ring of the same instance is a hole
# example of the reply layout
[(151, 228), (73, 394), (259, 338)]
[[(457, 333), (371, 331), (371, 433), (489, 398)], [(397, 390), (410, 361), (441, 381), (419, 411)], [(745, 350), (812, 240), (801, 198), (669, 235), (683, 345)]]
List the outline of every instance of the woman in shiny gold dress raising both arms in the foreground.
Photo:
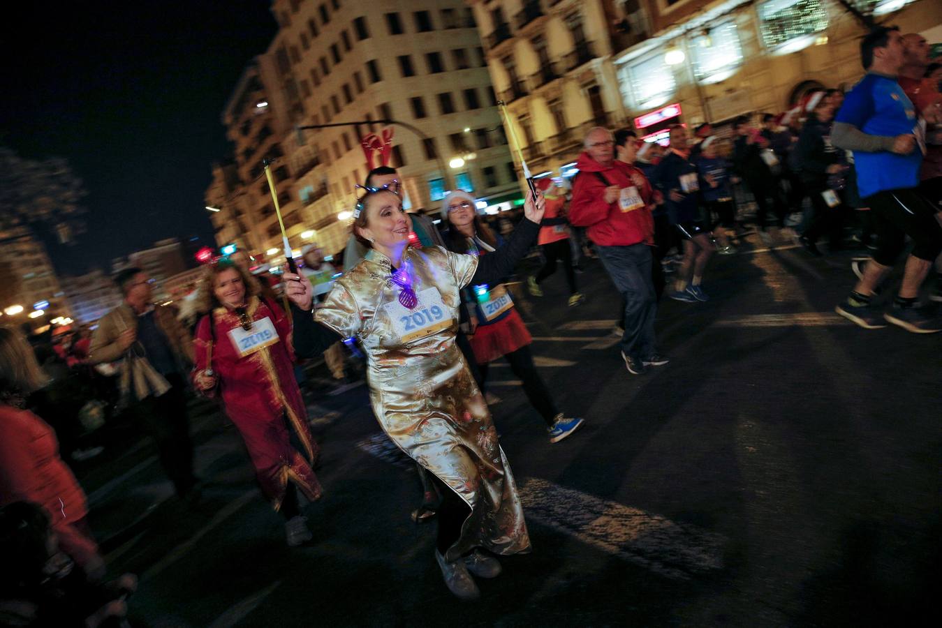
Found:
[(455, 345), (461, 289), (497, 282), (540, 230), (544, 200), (528, 198), (508, 243), (487, 257), (409, 246), (409, 217), (398, 194), (367, 188), (353, 233), (365, 259), (334, 284), (312, 314), (310, 282), (285, 273), (297, 308), (294, 345), (313, 356), (357, 338), (367, 355), (370, 399), (383, 431), (435, 477), (443, 494), (435, 556), (447, 587), (474, 600), (471, 573), (494, 577), (500, 556), (530, 542), (510, 465), (478, 386)]

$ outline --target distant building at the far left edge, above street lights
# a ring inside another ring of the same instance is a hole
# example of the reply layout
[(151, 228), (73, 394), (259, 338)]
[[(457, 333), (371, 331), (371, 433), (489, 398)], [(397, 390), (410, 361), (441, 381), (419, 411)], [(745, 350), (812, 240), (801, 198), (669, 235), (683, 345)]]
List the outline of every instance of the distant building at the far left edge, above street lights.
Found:
[(4, 284), (0, 289), (0, 321), (24, 322), (37, 311), (68, 315), (69, 302), (42, 243), (25, 227), (0, 233), (0, 240), (4, 241), (0, 247), (0, 282)]

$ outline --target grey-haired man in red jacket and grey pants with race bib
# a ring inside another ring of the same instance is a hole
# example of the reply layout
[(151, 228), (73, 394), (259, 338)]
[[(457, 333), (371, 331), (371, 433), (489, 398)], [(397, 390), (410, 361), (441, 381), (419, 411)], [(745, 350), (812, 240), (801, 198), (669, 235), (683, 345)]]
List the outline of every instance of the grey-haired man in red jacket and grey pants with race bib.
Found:
[(585, 138), (573, 184), (569, 220), (587, 227), (611, 281), (625, 300), (622, 358), (628, 372), (641, 375), (667, 358), (655, 346), (658, 299), (651, 278), (654, 206), (651, 184), (640, 169), (615, 160), (614, 138), (601, 126)]

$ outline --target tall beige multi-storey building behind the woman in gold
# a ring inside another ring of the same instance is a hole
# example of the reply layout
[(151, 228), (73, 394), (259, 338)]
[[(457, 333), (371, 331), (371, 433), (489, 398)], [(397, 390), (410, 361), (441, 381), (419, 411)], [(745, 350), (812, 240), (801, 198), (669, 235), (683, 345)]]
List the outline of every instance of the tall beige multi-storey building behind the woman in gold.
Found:
[[(437, 212), (458, 187), (487, 204), (520, 198), (474, 14), (461, 0), (275, 0), (272, 11), (279, 32), (223, 114), (237, 180), (228, 185), (219, 171), (207, 190), (207, 205), (232, 208), (212, 217), (220, 246), (244, 218), (235, 239), (281, 261), (266, 156), (295, 250), (344, 248), (355, 185), (369, 169), (364, 143), (380, 149), (373, 166), (388, 144), (414, 211)], [(306, 125), (334, 126), (295, 131)]]

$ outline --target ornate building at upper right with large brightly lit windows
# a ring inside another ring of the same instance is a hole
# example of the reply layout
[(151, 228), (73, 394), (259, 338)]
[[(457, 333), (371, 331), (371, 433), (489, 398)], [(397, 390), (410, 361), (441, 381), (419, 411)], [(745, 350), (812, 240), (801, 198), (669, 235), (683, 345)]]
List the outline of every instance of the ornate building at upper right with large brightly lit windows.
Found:
[[(660, 140), (674, 122), (779, 113), (864, 73), (866, 29), (835, 0), (467, 2), (534, 173), (572, 173), (595, 125)], [(932, 0), (851, 2), (903, 32), (942, 23)]]

